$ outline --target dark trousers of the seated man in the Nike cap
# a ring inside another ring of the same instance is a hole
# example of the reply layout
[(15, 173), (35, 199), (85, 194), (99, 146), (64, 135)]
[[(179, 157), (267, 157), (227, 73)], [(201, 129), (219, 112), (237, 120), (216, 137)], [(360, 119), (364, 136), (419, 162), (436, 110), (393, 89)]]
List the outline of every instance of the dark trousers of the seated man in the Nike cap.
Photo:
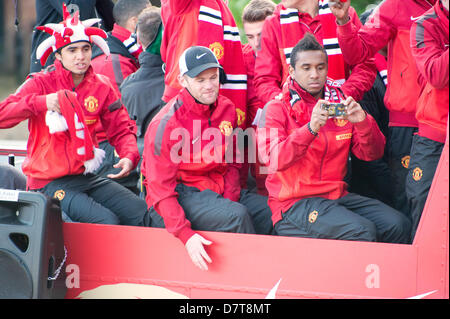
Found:
[[(247, 234), (271, 234), (272, 212), (267, 197), (244, 189), (239, 203), (223, 198), (209, 189), (178, 184), (178, 203), (194, 230), (221, 231)], [(152, 227), (165, 227), (161, 216), (150, 208)]]

